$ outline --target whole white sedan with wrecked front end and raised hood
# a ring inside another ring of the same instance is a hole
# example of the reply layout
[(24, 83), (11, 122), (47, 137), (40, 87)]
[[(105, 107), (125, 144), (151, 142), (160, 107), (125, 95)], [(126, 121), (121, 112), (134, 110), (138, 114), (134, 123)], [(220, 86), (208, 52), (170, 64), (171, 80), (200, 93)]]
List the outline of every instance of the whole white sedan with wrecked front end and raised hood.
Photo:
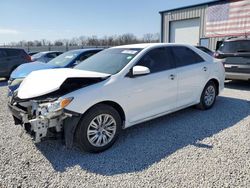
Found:
[(197, 105), (213, 107), (224, 88), (224, 67), (197, 48), (137, 44), (104, 50), (74, 69), (35, 71), (9, 108), (35, 142), (64, 132), (67, 147), (101, 152), (123, 128)]

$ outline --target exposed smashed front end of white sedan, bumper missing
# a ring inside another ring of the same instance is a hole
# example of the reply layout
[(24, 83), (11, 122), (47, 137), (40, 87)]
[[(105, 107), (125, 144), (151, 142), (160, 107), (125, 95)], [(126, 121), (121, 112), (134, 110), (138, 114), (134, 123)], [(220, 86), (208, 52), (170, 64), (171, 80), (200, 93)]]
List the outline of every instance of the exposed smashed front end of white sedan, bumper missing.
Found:
[(72, 114), (66, 113), (64, 108), (72, 100), (73, 98), (19, 101), (13, 97), (8, 106), (15, 124), (21, 124), (34, 137), (35, 143), (38, 143), (48, 135), (48, 131), (62, 132), (64, 120), (72, 117)]

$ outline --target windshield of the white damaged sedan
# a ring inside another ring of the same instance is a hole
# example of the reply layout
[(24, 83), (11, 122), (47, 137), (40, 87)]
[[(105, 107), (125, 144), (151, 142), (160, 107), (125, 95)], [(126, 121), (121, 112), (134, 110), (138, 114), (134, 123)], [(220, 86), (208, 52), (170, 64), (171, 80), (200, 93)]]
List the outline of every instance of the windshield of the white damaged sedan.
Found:
[(113, 75), (120, 72), (141, 50), (128, 48), (107, 49), (81, 62), (75, 69)]

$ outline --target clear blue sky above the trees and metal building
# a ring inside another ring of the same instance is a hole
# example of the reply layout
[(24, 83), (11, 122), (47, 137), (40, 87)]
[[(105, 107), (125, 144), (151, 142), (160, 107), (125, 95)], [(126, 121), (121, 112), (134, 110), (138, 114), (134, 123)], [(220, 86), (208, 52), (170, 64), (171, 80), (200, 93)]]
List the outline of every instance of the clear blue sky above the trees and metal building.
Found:
[(208, 0), (1, 0), (0, 44), (160, 32), (159, 11)]

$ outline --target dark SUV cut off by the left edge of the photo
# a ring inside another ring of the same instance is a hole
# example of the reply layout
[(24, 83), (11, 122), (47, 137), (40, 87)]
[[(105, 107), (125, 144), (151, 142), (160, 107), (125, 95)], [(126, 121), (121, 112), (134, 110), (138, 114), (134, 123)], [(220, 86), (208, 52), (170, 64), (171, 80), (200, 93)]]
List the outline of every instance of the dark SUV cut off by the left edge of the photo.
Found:
[(9, 78), (19, 65), (31, 62), (31, 57), (17, 48), (0, 48), (0, 77)]

